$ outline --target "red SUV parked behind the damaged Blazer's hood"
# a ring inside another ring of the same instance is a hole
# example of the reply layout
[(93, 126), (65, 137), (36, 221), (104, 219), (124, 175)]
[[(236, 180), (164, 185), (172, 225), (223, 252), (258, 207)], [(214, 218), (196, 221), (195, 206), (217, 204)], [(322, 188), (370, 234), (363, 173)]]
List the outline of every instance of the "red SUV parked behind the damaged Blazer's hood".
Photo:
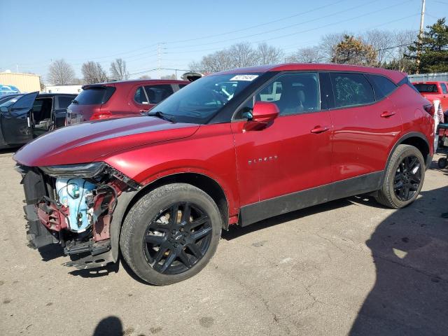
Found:
[(184, 80), (123, 80), (84, 85), (67, 109), (66, 125), (146, 112), (188, 83)]

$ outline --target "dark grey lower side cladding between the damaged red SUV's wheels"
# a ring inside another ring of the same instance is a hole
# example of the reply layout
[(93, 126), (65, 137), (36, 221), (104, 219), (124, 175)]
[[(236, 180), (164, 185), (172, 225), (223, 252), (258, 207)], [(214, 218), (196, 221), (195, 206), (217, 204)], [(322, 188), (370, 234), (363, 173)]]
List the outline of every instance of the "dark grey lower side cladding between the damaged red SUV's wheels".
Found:
[(381, 188), (383, 171), (352, 177), (343, 181), (326, 184), (296, 193), (274, 197), (241, 207), (239, 225), (262, 221), (263, 219), (286, 214), (316, 204), (322, 204), (339, 198), (371, 193)]

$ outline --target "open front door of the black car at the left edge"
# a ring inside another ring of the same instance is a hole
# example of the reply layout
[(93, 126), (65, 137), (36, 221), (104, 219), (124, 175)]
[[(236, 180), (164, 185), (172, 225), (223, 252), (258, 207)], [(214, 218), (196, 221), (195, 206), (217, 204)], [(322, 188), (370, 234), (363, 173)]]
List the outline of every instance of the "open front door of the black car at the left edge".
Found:
[(26, 144), (33, 139), (31, 111), (37, 95), (38, 92), (25, 94), (10, 106), (9, 111), (1, 112), (1, 132), (6, 144)]

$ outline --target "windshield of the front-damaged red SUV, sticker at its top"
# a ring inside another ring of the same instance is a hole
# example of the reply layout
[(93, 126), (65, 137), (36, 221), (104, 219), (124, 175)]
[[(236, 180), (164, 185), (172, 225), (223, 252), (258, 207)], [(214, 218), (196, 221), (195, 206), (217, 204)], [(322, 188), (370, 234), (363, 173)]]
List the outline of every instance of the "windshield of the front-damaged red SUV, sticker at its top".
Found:
[(178, 123), (207, 123), (258, 76), (230, 73), (202, 77), (155, 106), (151, 113), (173, 116)]

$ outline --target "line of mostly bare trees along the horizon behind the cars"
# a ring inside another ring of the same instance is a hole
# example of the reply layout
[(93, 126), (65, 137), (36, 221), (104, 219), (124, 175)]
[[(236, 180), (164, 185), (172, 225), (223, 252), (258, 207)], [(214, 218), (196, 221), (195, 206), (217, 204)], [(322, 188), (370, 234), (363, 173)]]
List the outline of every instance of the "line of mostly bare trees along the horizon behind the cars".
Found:
[[(254, 47), (249, 42), (241, 42), (190, 62), (189, 68), (191, 71), (213, 73), (244, 66), (300, 62), (381, 66), (411, 74), (417, 71), (417, 58), (421, 73), (448, 72), (448, 25), (445, 18), (427, 26), (421, 39), (412, 30), (373, 29), (358, 35), (342, 31), (327, 34), (317, 45), (298, 48), (289, 54), (267, 43)], [(99, 62), (93, 61), (83, 63), (81, 73), (83, 78), (76, 78), (73, 67), (64, 59), (58, 59), (50, 64), (48, 79), (55, 85), (64, 85), (101, 83), (130, 77), (126, 62), (121, 58), (111, 62), (109, 73)], [(151, 77), (144, 75), (141, 78)], [(162, 76), (162, 79), (171, 78), (175, 75)]]

